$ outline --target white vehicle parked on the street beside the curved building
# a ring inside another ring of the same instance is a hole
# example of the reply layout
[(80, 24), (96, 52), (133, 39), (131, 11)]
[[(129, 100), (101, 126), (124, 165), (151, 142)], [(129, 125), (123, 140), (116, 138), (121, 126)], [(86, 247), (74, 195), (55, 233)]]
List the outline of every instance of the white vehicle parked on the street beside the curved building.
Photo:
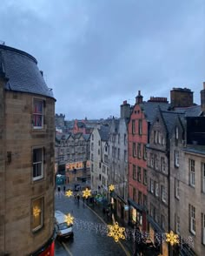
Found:
[(73, 225), (68, 225), (65, 221), (66, 215), (61, 211), (55, 211), (56, 232), (58, 239), (73, 238)]

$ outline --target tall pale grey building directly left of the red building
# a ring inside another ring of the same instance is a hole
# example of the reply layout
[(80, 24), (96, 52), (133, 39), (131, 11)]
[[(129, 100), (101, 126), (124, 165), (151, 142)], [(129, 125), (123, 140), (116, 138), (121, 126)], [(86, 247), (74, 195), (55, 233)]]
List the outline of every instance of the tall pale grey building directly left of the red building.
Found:
[(128, 222), (128, 121), (130, 104), (121, 105), (121, 118), (113, 118), (109, 128), (109, 185), (115, 185), (112, 192), (116, 215)]

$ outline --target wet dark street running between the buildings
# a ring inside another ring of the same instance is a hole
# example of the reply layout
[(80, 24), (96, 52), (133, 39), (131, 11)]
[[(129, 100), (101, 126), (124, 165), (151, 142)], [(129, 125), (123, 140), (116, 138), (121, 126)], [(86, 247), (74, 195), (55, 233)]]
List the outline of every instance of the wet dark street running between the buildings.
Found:
[[(56, 210), (74, 216), (74, 239), (56, 240), (56, 256), (124, 256), (130, 255), (121, 242), (107, 236), (104, 220), (82, 200), (74, 201), (56, 193)], [(110, 222), (111, 223), (111, 222)]]

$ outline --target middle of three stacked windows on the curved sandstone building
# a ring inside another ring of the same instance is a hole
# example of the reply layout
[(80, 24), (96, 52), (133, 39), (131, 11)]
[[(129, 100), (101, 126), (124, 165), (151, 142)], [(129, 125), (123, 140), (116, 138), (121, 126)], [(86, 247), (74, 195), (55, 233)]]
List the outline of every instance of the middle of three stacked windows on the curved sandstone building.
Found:
[(43, 148), (33, 149), (33, 180), (43, 178)]

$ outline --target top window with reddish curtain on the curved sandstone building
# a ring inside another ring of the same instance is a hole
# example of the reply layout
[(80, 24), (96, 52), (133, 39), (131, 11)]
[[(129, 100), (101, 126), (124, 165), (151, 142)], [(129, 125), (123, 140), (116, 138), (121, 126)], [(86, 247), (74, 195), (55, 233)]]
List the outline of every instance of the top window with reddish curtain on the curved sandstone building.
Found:
[(43, 128), (43, 100), (34, 99), (33, 106), (33, 128)]

